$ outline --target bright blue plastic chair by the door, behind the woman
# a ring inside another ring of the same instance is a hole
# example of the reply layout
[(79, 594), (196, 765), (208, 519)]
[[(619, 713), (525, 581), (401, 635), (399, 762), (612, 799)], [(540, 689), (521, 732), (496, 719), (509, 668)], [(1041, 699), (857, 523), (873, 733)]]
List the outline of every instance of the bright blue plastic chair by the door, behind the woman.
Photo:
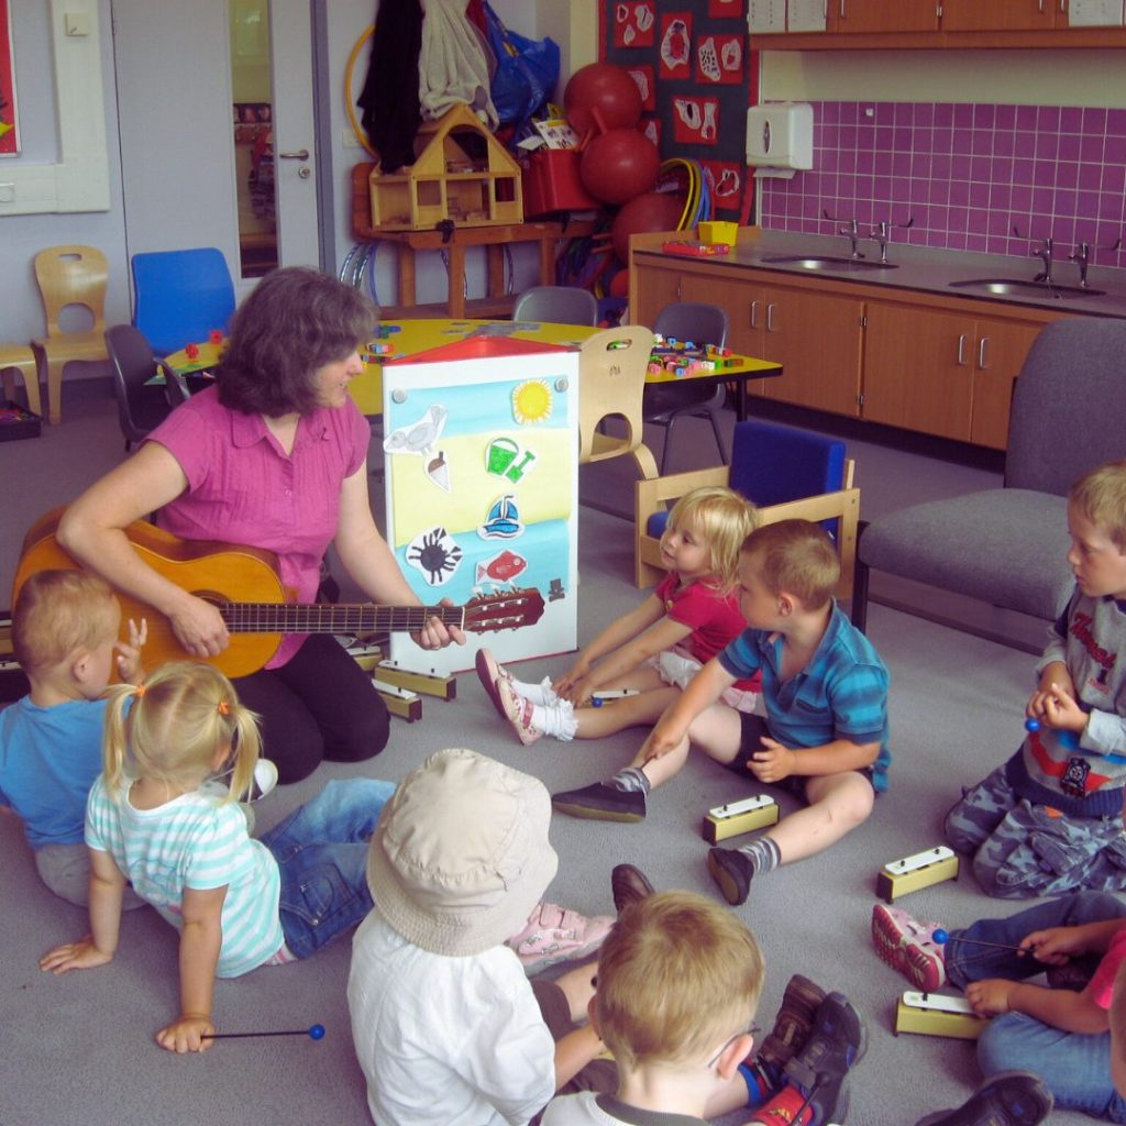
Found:
[(234, 283), (214, 247), (133, 256), (136, 294), (133, 324), (158, 356), (226, 332), (234, 312)]

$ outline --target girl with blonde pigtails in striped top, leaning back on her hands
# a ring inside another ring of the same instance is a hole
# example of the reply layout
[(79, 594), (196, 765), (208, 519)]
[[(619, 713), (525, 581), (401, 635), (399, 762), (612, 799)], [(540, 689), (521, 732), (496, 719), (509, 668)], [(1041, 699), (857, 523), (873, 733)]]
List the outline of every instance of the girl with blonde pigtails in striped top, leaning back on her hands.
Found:
[[(307, 957), (372, 909), (367, 841), (394, 790), (330, 781), (260, 840), (239, 798), (259, 754), (257, 717), (208, 664), (167, 664), (108, 689), (104, 769), (87, 802), (90, 933), (39, 962), (63, 974), (117, 950), (126, 883), (180, 932), (180, 1011), (157, 1034), (171, 1052), (214, 1043), (216, 977)], [(208, 784), (230, 770), (230, 789)]]

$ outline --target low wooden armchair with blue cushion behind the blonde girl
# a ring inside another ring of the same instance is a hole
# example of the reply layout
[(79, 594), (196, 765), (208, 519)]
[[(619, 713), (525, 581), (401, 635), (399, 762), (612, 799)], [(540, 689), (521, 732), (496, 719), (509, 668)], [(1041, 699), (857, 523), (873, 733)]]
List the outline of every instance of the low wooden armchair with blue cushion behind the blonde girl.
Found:
[(736, 422), (731, 465), (673, 473), (634, 485), (634, 565), (638, 587), (651, 587), (661, 566), (661, 533), (669, 501), (700, 485), (730, 485), (753, 501), (760, 524), (803, 519), (830, 521), (841, 560), (837, 596), (852, 596), (860, 490), (854, 488), (855, 465), (844, 443), (810, 430), (749, 419)]

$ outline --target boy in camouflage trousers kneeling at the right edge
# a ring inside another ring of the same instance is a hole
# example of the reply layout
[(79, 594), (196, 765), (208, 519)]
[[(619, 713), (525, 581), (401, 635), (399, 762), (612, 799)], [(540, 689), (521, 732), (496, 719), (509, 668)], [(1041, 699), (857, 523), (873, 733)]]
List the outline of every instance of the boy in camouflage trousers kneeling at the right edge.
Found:
[(1001, 899), (1126, 888), (1126, 462), (1072, 485), (1067, 528), (1075, 590), (1036, 667), (1031, 730), (946, 819)]

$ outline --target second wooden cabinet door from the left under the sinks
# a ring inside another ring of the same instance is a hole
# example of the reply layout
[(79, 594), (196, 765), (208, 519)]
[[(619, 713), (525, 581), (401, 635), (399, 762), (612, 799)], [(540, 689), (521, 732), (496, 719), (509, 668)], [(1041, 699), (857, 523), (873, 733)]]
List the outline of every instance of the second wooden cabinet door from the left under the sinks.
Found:
[(857, 418), (864, 302), (774, 286), (765, 300), (762, 358), (783, 365), (766, 397)]

